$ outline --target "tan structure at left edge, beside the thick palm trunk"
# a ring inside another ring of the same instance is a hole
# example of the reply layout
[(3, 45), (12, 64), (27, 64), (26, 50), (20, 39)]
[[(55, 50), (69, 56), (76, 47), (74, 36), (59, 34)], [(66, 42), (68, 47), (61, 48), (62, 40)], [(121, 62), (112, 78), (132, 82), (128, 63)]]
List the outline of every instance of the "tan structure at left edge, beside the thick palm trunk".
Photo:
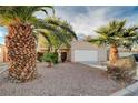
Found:
[(7, 48), (3, 44), (0, 44), (0, 62), (7, 62)]

